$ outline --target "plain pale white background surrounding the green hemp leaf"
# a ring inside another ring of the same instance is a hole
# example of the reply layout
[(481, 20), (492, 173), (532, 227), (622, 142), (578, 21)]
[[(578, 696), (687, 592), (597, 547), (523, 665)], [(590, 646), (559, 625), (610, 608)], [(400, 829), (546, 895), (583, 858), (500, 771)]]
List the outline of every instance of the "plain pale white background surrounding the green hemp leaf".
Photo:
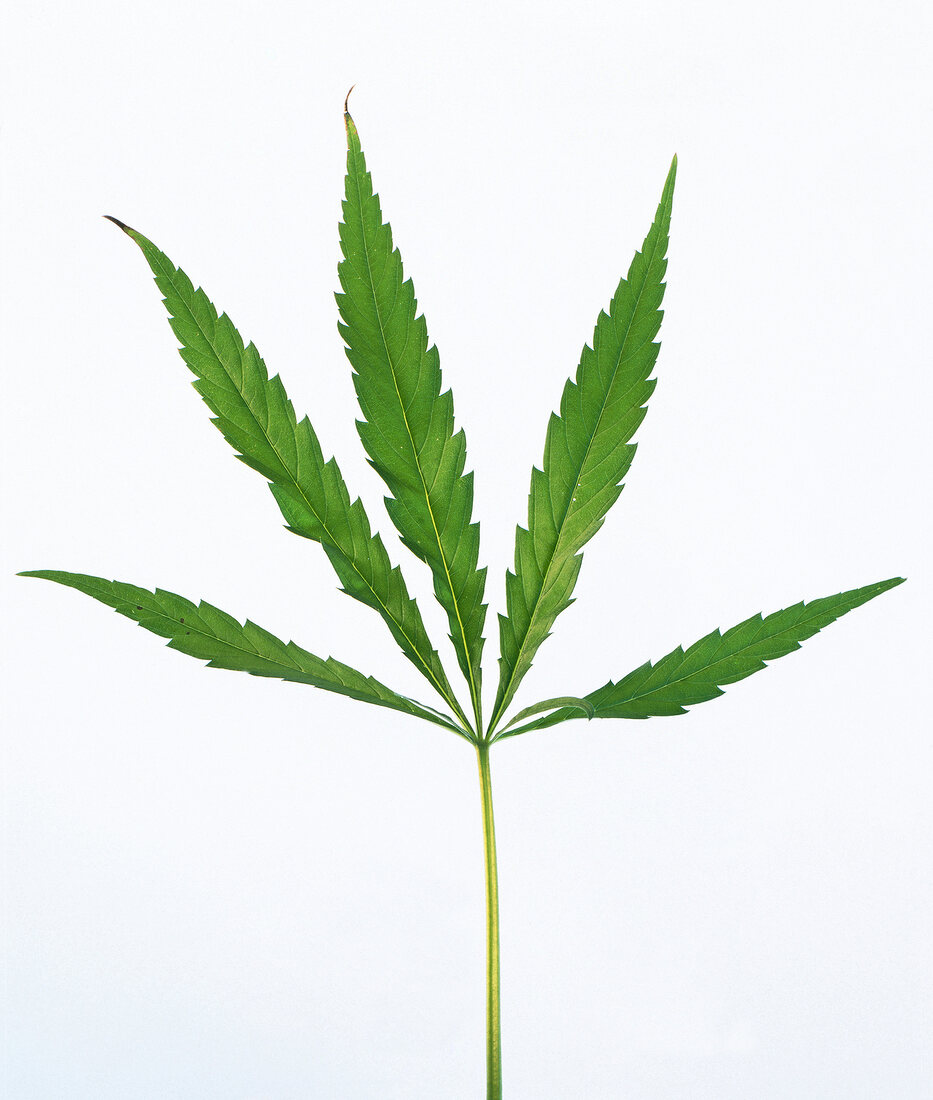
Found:
[(336, 330), (354, 81), (476, 471), (490, 691), (547, 416), (674, 152), (658, 388), (516, 702), (909, 578), (687, 717), (494, 752), (506, 1097), (933, 1096), (930, 19), (826, 0), (8, 9), (6, 1097), (483, 1094), (469, 747), (205, 671), (12, 575), (204, 597), (427, 700), (231, 458), (142, 256), (100, 218), (150, 235), (282, 373), (447, 657)]

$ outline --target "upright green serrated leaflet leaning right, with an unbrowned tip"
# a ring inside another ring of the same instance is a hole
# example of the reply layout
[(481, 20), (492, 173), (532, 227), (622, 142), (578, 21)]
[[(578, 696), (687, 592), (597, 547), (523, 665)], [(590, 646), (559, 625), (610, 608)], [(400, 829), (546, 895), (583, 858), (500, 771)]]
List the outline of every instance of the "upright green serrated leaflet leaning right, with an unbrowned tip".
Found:
[(655, 388), (649, 378), (660, 344), (665, 258), (677, 157), (655, 222), (608, 314), (600, 312), (593, 346), (584, 345), (575, 381), (568, 380), (560, 416), (551, 414), (541, 470), (533, 469), (528, 529), (515, 537), (515, 572), (505, 579), (507, 615), (500, 615), (500, 683), (495, 728), (538, 647), (571, 603), (580, 549), (602, 527), (635, 457), (629, 440)]

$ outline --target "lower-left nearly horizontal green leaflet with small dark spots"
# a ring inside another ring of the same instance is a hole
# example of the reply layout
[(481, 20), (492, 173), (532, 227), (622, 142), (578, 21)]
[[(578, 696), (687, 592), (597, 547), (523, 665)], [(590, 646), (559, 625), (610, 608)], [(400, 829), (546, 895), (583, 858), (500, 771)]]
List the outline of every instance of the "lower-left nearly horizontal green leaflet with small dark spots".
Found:
[(399, 695), (385, 684), (365, 676), (348, 664), (328, 657), (315, 657), (294, 641), (284, 642), (246, 619), (243, 626), (212, 604), (193, 604), (184, 596), (156, 588), (139, 588), (122, 581), (107, 581), (85, 573), (40, 569), (20, 576), (37, 576), (77, 588), (108, 604), (141, 627), (168, 638), (168, 646), (208, 662), (212, 669), (234, 669), (254, 676), (273, 676), (292, 683), (310, 684), (351, 698), (387, 706), (465, 736), (444, 715)]

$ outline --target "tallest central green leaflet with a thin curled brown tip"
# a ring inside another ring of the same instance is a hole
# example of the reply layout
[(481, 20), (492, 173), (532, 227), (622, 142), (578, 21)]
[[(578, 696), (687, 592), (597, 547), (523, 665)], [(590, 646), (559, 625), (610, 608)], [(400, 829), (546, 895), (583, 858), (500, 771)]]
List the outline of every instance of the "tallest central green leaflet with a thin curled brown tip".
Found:
[(392, 229), (353, 120), (347, 122), (347, 198), (340, 226), (343, 294), (337, 295), (364, 419), (356, 422), (373, 468), (392, 493), (386, 508), (402, 541), (433, 574), (450, 638), (482, 730), (481, 671), (485, 569), (478, 569), (480, 526), (471, 521), (473, 474), (466, 442), (454, 433), (453, 397), (441, 393), (437, 348), (405, 279)]

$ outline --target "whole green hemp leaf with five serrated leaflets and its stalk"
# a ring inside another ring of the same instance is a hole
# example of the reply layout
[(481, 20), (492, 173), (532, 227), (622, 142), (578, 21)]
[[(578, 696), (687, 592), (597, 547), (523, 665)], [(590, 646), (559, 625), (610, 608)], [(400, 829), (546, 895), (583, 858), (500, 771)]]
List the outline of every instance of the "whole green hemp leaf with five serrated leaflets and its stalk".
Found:
[[(425, 676), (439, 705), (408, 698), (332, 657), (284, 642), (249, 619), (162, 588), (150, 592), (83, 573), (35, 570), (114, 608), (168, 646), (233, 669), (310, 684), (391, 707), (443, 726), (469, 741), (480, 770), (486, 877), (486, 1097), (502, 1097), (498, 880), (490, 750), (498, 740), (586, 718), (648, 718), (723, 694), (725, 685), (800, 648), (806, 638), (854, 607), (902, 583), (891, 578), (837, 595), (753, 615), (713, 630), (688, 649), (678, 646), (586, 695), (542, 700), (506, 718), (515, 693), (562, 610), (572, 603), (582, 548), (596, 534), (623, 488), (635, 457), (633, 438), (655, 388), (661, 301), (677, 157), (648, 235), (608, 306), (592, 344), (547, 428), (540, 469), (531, 471), (527, 527), (518, 527), (514, 571), (506, 574), (500, 615), (500, 679), (492, 715), (483, 722), (482, 654), (486, 570), (479, 565), (480, 525), (473, 519), (473, 474), (464, 472), (466, 441), (453, 396), (442, 388), (437, 348), (428, 343), (415, 288), (366, 169), (360, 136), (344, 105), (348, 156), (338, 266), (340, 333), (353, 367), (362, 410), (356, 422), (370, 462), (388, 487), (386, 510), (400, 541), (431, 571), (435, 595), (450, 628), (466, 704), (451, 686), (416, 601), (373, 535), (362, 502), (352, 498), (337, 460), (325, 460), (307, 417), (298, 420), (278, 375), (204, 290), (142, 233), (110, 218), (139, 245), (168, 310), (194, 386), (237, 457), (267, 482), (288, 530), (319, 542), (342, 591), (373, 608), (402, 652)], [(531, 719), (531, 721), (528, 721)]]

